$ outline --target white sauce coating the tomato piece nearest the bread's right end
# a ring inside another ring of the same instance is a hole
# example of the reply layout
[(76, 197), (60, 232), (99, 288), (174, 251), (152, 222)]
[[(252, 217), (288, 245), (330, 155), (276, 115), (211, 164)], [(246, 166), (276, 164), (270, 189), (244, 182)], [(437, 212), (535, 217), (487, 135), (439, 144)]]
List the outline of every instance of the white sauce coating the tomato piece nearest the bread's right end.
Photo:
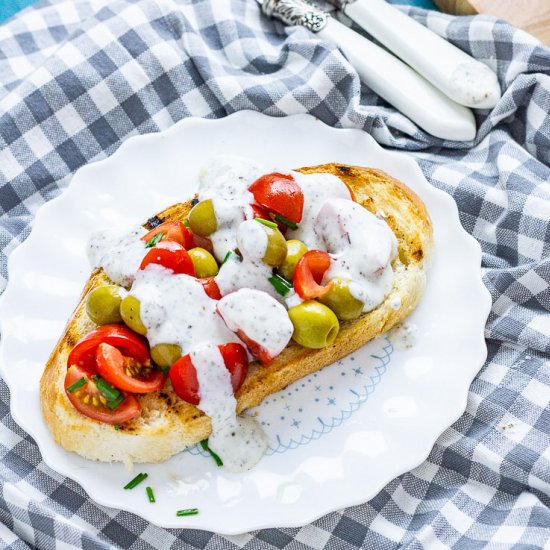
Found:
[(365, 304), (363, 311), (378, 306), (392, 288), (391, 261), (397, 254), (388, 224), (353, 201), (333, 199), (319, 211), (315, 231), (332, 258), (324, 281), (349, 279), (352, 295)]

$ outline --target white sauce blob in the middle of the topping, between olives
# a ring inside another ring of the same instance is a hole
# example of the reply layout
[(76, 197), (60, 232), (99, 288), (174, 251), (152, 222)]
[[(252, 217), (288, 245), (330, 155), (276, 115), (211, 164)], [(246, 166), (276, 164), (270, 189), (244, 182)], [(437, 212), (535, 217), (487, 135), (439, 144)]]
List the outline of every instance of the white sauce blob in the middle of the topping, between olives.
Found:
[(282, 296), (269, 282), (272, 268), (262, 261), (267, 249), (267, 234), (262, 225), (254, 220), (242, 222), (237, 230), (237, 247), (242, 254), (242, 261), (236, 255), (231, 255), (215, 277), (221, 295), (225, 296), (240, 288), (255, 288), (282, 301)]

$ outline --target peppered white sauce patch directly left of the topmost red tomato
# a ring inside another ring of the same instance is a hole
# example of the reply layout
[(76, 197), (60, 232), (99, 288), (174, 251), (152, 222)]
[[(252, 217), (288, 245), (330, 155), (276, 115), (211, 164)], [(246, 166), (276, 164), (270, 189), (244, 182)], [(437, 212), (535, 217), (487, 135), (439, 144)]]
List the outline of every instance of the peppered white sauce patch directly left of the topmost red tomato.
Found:
[(199, 200), (211, 199), (218, 224), (210, 235), (214, 255), (222, 261), (237, 247), (239, 224), (253, 217), (254, 197), (248, 187), (262, 175), (262, 169), (245, 159), (222, 156), (201, 174)]

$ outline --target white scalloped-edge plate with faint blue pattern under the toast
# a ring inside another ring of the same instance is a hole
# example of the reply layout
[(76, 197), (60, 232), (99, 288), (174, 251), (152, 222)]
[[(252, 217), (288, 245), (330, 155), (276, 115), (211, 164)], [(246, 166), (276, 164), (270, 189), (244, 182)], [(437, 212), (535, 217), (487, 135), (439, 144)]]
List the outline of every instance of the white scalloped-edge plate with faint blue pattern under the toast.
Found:
[[(101, 227), (141, 223), (188, 199), (201, 166), (222, 153), (281, 168), (373, 166), (414, 189), (432, 216), (436, 243), (426, 294), (410, 318), (418, 327), (416, 345), (396, 349), (380, 338), (270, 397), (259, 418), (272, 446), (244, 474), (216, 468), (197, 448), (134, 472), (65, 452), (42, 420), (38, 384), (88, 277), (88, 236)], [(10, 256), (0, 366), (13, 417), (36, 440), (44, 461), (100, 504), (161, 526), (224, 534), (304, 525), (369, 500), (420, 464), (464, 411), (468, 387), (486, 357), (490, 299), (480, 259), (452, 199), (428, 184), (411, 157), (381, 149), (364, 132), (333, 129), (308, 115), (239, 112), (221, 120), (186, 119), (168, 131), (132, 138), (111, 158), (80, 170), (59, 198), (40, 209), (30, 237)], [(145, 484), (122, 489), (140, 471), (149, 474), (156, 504), (147, 501)], [(197, 516), (175, 515), (194, 507)]]

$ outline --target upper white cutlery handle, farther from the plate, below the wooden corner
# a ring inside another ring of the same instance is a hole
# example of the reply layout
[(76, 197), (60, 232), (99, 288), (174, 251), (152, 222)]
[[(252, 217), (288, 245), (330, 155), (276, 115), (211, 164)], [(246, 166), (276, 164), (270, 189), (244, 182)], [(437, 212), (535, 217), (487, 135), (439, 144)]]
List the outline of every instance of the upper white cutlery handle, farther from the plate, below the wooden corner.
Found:
[(490, 109), (500, 99), (496, 74), (386, 0), (355, 0), (344, 13), (451, 99)]

